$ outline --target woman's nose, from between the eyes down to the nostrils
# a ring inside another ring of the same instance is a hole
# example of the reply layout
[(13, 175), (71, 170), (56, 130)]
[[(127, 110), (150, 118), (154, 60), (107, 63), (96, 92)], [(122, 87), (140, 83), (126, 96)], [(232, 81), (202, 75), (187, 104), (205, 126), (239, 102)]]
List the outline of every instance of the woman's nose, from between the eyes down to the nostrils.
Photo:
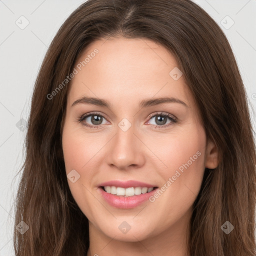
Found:
[[(125, 169), (129, 165), (143, 164), (144, 157), (139, 140), (134, 135), (135, 125), (123, 118), (116, 127), (116, 134), (111, 139), (108, 151), (108, 164)], [(141, 142), (140, 142), (141, 143)]]

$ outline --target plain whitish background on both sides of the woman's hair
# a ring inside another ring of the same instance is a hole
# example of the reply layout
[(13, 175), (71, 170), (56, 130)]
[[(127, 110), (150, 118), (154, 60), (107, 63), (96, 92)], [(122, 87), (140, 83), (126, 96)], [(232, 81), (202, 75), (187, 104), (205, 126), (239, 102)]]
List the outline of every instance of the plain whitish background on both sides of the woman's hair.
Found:
[[(24, 159), (31, 93), (42, 58), (60, 25), (82, 0), (0, 0), (0, 256), (12, 256), (13, 204)], [(251, 110), (256, 106), (256, 0), (196, 0), (226, 34), (235, 54)], [(20, 16), (24, 16), (20, 21)], [(232, 22), (226, 19), (229, 16)], [(225, 19), (223, 19), (225, 18)], [(15, 21), (29, 24), (20, 29)], [(225, 21), (227, 20), (227, 21)], [(253, 125), (255, 127), (255, 118)]]

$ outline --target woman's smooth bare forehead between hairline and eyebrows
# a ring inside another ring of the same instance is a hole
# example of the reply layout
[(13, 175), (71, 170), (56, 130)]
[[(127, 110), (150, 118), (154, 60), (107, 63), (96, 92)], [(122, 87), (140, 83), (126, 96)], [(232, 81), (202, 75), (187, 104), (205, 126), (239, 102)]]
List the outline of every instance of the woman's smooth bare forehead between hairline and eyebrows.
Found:
[(68, 101), (82, 95), (126, 104), (154, 96), (191, 100), (182, 75), (172, 77), (179, 72), (175, 57), (145, 38), (98, 39), (80, 54), (75, 68), (77, 74), (68, 85)]

